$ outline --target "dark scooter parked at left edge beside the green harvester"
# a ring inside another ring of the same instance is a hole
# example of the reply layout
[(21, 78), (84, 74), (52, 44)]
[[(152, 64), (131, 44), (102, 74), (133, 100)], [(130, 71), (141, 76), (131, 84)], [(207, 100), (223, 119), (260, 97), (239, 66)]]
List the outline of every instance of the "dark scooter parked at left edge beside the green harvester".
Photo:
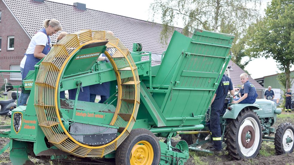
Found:
[[(7, 92), (13, 89), (12, 86), (7, 87)], [(0, 94), (0, 98), (3, 98), (3, 96), (7, 96), (7, 93)], [(0, 101), (0, 115), (6, 115), (5, 118), (7, 116), (11, 118), (11, 111), (16, 108), (17, 92), (12, 92), (11, 97), (11, 99)]]

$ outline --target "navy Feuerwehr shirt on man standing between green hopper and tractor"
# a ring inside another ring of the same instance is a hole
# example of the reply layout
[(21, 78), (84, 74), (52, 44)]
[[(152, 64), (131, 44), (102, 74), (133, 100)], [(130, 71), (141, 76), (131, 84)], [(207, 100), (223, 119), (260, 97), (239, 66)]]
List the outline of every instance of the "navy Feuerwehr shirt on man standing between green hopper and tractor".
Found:
[(224, 100), (230, 90), (233, 90), (233, 83), (231, 82), (231, 78), (223, 75), (220, 81), (220, 85), (217, 87), (217, 90), (215, 92), (216, 96), (213, 103), (211, 104), (211, 107), (215, 106), (223, 109)]

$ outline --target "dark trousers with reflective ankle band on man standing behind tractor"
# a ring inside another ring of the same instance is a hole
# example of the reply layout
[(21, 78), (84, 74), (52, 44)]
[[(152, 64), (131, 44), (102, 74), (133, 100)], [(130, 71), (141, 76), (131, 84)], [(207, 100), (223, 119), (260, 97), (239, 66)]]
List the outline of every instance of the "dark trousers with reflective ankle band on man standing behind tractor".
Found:
[(211, 105), (210, 120), (207, 122), (207, 127), (211, 132), (211, 138), (214, 142), (214, 148), (222, 149), (222, 135), (220, 129), (220, 113), (223, 107)]

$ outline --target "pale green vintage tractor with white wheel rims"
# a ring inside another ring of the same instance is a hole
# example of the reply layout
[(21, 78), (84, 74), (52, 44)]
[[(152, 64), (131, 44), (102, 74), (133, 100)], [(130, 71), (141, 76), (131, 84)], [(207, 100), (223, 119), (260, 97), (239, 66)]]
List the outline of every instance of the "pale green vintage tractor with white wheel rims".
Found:
[[(226, 74), (229, 75), (228, 68)], [(226, 147), (234, 160), (255, 158), (259, 154), (262, 141), (274, 142), (278, 155), (293, 152), (293, 125), (285, 122), (280, 124), (278, 129), (272, 127), (277, 120), (277, 115), (281, 114), (281, 109), (277, 109), (275, 102), (257, 99), (255, 104), (228, 104), (231, 97), (228, 95), (225, 100), (220, 126), (223, 134), (223, 148)], [(207, 118), (209, 118), (208, 114)], [(208, 128), (202, 130), (208, 130)], [(210, 134), (189, 133), (197, 132), (180, 133), (181, 139), (187, 141), (189, 148), (208, 152), (206, 149), (207, 144), (211, 142)]]

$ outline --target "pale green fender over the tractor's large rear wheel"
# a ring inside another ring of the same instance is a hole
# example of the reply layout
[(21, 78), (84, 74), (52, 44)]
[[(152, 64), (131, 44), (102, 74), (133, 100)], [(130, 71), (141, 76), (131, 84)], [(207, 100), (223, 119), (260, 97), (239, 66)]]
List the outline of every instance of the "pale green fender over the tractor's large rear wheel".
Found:
[(235, 119), (239, 115), (239, 112), (246, 107), (249, 107), (252, 110), (258, 110), (259, 105), (257, 104), (229, 104), (231, 110), (226, 110), (226, 113), (223, 115), (223, 118), (232, 118)]

